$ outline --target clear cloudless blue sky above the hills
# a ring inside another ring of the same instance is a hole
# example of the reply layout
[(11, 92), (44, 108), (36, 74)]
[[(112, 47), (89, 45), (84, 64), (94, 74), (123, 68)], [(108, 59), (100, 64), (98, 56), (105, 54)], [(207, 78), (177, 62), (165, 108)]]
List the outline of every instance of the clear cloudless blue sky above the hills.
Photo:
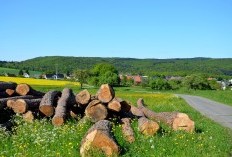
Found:
[(0, 60), (232, 58), (232, 0), (0, 0)]

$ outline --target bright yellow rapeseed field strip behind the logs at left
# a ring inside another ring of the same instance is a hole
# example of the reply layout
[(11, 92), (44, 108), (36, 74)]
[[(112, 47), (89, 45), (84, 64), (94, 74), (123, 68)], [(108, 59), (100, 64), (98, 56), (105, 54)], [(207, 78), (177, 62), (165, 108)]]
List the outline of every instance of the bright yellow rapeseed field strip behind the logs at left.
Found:
[(46, 79), (34, 79), (34, 78), (19, 78), (19, 77), (4, 77), (0, 76), (0, 81), (15, 82), (15, 83), (26, 83), (29, 85), (44, 85), (44, 86), (65, 86), (65, 85), (76, 85), (79, 86), (79, 82), (71, 82), (64, 80), (46, 80)]

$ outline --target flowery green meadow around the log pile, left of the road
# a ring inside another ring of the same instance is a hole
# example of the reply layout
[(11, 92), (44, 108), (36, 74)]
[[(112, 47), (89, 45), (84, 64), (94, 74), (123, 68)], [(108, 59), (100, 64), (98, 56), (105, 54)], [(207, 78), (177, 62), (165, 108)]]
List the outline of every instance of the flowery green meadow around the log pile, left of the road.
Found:
[[(34, 87), (37, 90), (42, 87)], [(59, 87), (54, 89), (61, 90)], [(194, 133), (174, 132), (161, 125), (154, 136), (144, 136), (138, 131), (137, 120), (132, 121), (135, 142), (126, 142), (121, 133), (121, 125), (113, 124), (113, 133), (123, 157), (165, 157), (165, 156), (201, 156), (226, 157), (232, 155), (232, 132), (209, 120), (192, 109), (181, 98), (172, 94), (152, 93), (149, 90), (134, 88), (115, 88), (116, 96), (136, 105), (138, 98), (143, 98), (146, 105), (157, 112), (179, 111), (187, 113), (196, 123)], [(43, 88), (49, 90), (48, 87)], [(74, 92), (80, 89), (74, 88)], [(90, 90), (95, 94), (97, 89)], [(78, 123), (68, 120), (61, 127), (54, 127), (50, 119), (36, 120), (34, 123), (23, 122), (16, 117), (18, 126), (12, 134), (0, 133), (0, 156), (17, 157), (78, 157), (81, 139), (91, 126), (90, 123)], [(94, 152), (92, 156), (100, 156)]]

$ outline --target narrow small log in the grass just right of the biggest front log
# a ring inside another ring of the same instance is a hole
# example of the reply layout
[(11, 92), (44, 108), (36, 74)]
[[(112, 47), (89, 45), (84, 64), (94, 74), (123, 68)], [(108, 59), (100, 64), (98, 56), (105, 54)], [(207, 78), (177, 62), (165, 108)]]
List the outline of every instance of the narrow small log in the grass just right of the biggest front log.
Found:
[(134, 137), (134, 131), (130, 125), (131, 120), (130, 118), (122, 118), (122, 133), (125, 138), (125, 140), (129, 143), (132, 143), (135, 141)]

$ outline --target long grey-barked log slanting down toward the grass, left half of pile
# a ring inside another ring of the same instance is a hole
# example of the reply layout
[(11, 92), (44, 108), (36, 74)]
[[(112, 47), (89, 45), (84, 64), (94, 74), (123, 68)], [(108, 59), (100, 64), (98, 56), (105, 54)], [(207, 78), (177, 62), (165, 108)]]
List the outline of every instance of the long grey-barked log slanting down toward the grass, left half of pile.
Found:
[(75, 97), (71, 89), (64, 88), (61, 98), (58, 100), (57, 107), (55, 109), (55, 115), (52, 118), (52, 124), (54, 126), (61, 126), (64, 124), (67, 111), (75, 103)]

